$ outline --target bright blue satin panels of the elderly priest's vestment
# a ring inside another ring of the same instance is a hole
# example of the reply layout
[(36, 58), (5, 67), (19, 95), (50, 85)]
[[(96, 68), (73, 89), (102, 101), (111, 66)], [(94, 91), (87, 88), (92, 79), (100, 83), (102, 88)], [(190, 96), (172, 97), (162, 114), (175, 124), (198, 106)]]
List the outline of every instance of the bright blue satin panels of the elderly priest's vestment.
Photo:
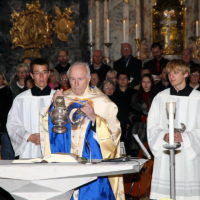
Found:
[[(79, 105), (74, 104), (76, 107)], [(50, 107), (49, 112), (53, 109)], [(50, 138), (51, 153), (70, 153), (71, 150), (71, 123), (65, 125), (67, 132), (63, 134), (57, 134), (52, 131), (53, 123), (51, 116), (48, 117), (48, 129)], [(101, 149), (98, 142), (93, 137), (93, 131), (91, 130), (91, 123), (89, 123), (84, 139), (84, 146), (82, 157), (86, 159), (102, 159)], [(90, 156), (91, 154), (91, 156)], [(107, 177), (100, 177), (97, 180), (90, 182), (79, 188), (79, 200), (115, 200), (110, 182)], [(71, 200), (74, 200), (72, 197)]]

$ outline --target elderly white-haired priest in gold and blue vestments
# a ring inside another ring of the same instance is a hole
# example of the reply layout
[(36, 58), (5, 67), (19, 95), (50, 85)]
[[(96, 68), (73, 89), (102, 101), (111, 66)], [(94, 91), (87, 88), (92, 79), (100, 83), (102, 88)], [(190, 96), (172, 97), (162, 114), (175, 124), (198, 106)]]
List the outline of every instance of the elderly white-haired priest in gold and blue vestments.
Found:
[[(71, 89), (64, 95), (69, 120), (67, 131), (54, 133), (49, 113), (43, 119), (44, 135), (41, 143), (44, 155), (56, 152), (74, 153), (87, 159), (116, 158), (120, 156), (120, 124), (117, 106), (98, 88), (89, 87), (90, 70), (86, 63), (75, 63), (68, 70)], [(72, 199), (124, 199), (122, 179), (98, 178), (74, 192)]]

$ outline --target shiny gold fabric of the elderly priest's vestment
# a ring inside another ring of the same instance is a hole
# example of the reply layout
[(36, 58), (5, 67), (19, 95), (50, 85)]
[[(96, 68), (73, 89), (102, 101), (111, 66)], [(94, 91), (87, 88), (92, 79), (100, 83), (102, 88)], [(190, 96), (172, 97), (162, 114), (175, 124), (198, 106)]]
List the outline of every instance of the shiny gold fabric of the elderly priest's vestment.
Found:
[[(100, 145), (103, 159), (117, 158), (120, 156), (120, 123), (117, 120), (117, 106), (98, 88), (86, 88), (81, 96), (74, 95), (69, 89), (64, 92), (66, 107), (75, 102), (89, 102), (96, 114), (96, 133), (94, 138)], [(70, 115), (69, 115), (70, 118)], [(85, 117), (78, 126), (72, 125), (71, 130), (71, 153), (82, 156), (86, 129), (90, 120)], [(48, 133), (48, 112), (43, 117), (43, 134), (41, 134), (41, 145), (44, 156), (51, 153)], [(123, 179), (120, 176), (111, 176), (109, 181), (116, 200), (123, 200)]]

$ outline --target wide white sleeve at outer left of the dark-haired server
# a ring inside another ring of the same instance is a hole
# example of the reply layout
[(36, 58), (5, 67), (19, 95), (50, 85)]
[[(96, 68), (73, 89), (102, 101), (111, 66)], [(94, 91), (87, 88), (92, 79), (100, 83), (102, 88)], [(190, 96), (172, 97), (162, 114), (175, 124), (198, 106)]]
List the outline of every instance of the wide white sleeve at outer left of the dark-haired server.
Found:
[(17, 97), (8, 113), (7, 130), (15, 151), (15, 156), (22, 154), (27, 144), (27, 139), (31, 135), (25, 130), (23, 125), (23, 108), (20, 107)]

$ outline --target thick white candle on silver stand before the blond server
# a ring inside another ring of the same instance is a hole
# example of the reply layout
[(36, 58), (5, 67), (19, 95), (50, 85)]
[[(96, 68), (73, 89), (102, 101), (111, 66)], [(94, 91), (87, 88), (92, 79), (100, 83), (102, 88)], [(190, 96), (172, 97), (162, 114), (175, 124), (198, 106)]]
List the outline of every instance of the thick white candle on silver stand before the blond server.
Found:
[(174, 102), (168, 103), (168, 112), (169, 112), (169, 144), (174, 145), (174, 112), (175, 106)]

